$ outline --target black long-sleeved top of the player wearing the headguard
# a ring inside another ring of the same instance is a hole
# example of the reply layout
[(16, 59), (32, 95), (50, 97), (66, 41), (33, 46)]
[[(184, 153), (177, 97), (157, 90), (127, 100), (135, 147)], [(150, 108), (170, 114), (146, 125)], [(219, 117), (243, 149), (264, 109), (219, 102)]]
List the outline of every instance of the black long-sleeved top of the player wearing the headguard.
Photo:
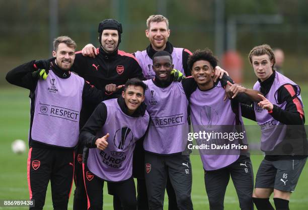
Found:
[[(105, 91), (105, 86), (115, 84), (124, 85), (128, 79), (139, 78), (144, 80), (142, 69), (136, 58), (121, 50), (106, 53), (102, 47), (97, 48), (95, 58), (83, 56), (81, 51), (76, 52), (72, 71), (89, 81), (97, 89)], [(108, 96), (107, 99), (121, 95), (119, 90)], [(83, 104), (80, 118), (80, 127), (83, 127), (96, 106)]]

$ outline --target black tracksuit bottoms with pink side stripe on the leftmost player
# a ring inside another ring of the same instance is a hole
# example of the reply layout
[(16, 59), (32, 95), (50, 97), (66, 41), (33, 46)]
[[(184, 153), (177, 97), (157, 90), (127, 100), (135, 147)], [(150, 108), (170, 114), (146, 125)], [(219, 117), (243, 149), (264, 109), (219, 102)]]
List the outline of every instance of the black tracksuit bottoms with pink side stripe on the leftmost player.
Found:
[(31, 147), (27, 161), (27, 178), (31, 210), (43, 209), (50, 180), (54, 209), (67, 209), (74, 172), (74, 150)]

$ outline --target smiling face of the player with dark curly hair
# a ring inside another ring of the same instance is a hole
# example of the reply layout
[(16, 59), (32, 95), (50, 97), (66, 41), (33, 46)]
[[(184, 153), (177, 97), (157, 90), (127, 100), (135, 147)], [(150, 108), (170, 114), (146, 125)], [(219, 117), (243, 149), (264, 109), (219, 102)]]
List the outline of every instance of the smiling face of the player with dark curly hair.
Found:
[(197, 60), (191, 69), (191, 76), (200, 90), (207, 90), (214, 85), (214, 68), (207, 60)]

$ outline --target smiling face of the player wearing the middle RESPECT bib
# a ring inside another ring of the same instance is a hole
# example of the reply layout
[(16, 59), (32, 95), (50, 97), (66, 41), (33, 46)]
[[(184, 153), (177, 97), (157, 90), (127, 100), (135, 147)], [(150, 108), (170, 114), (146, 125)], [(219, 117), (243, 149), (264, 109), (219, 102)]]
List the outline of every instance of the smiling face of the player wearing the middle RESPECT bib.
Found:
[(153, 70), (160, 81), (170, 81), (173, 64), (170, 56), (156, 56), (153, 58)]

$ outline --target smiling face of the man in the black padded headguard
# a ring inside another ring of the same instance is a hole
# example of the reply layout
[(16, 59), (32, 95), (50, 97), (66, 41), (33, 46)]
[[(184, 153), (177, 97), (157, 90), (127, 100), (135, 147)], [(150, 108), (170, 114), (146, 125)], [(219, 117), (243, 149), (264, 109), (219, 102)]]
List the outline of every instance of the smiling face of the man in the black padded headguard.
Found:
[(119, 34), (117, 30), (105, 29), (102, 33), (103, 50), (107, 53), (114, 52), (119, 43)]

